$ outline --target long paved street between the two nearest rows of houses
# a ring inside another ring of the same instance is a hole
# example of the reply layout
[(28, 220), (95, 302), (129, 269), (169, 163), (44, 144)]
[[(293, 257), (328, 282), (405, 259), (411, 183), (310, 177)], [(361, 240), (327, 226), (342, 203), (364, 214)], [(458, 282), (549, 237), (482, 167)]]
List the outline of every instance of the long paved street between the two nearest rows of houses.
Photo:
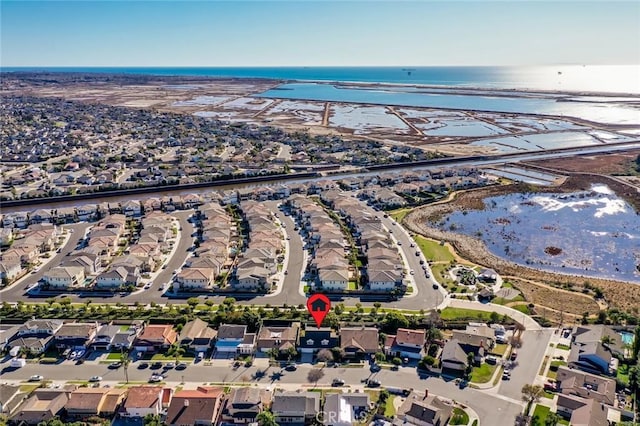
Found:
[[(263, 386), (275, 387), (278, 383), (298, 384), (300, 387), (308, 386), (307, 374), (311, 368), (309, 364), (302, 364), (294, 372), (282, 372), (280, 368), (269, 368), (265, 375), (256, 379), (255, 374), (259, 368), (264, 367), (240, 367), (237, 370), (231, 368), (231, 363), (218, 362), (217, 366), (190, 365), (186, 370), (169, 370), (168, 382), (191, 382), (195, 384), (211, 382), (242, 382), (243, 380), (257, 382)], [(5, 364), (6, 365), (6, 364)], [(124, 381), (124, 371), (110, 370), (105, 364), (85, 363), (83, 365), (73, 365), (65, 361), (65, 366), (60, 365), (40, 365), (29, 364), (26, 367), (14, 371), (3, 371), (2, 379), (6, 381), (24, 380), (31, 375), (40, 374), (47, 380), (87, 380), (89, 377), (102, 376), (103, 380), (109, 384), (116, 384)], [(66, 367), (68, 365), (68, 367)], [(129, 367), (129, 380), (132, 382), (144, 382), (149, 379), (151, 370), (148, 368), (139, 370), (137, 363), (132, 363)], [(66, 367), (66, 368), (65, 368)], [(362, 380), (374, 377), (380, 380), (383, 386), (398, 388), (413, 388), (419, 394), (425, 389), (435, 395), (443, 396), (470, 406), (482, 419), (482, 424), (501, 426), (513, 425), (515, 416), (522, 410), (519, 401), (519, 391), (514, 395), (515, 399), (506, 398), (500, 395), (492, 395), (486, 392), (471, 388), (459, 389), (452, 381), (446, 382), (439, 378), (421, 379), (413, 368), (401, 368), (399, 371), (382, 370), (371, 374), (365, 368), (324, 368), (325, 375), (318, 382), (320, 386), (328, 386), (334, 378), (341, 378), (347, 384), (360, 387)], [(275, 375), (274, 375), (275, 373)], [(204, 378), (204, 379), (203, 379)], [(276, 379), (276, 380), (274, 380)]]

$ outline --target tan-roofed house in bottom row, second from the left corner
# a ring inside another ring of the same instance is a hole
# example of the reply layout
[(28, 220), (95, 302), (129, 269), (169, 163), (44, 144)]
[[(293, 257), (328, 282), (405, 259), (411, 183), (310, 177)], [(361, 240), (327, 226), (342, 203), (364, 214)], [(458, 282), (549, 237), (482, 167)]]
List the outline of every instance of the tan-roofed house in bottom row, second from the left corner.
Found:
[[(75, 389), (75, 386), (72, 386)], [(15, 425), (38, 425), (62, 412), (72, 389), (36, 389), (9, 419)]]

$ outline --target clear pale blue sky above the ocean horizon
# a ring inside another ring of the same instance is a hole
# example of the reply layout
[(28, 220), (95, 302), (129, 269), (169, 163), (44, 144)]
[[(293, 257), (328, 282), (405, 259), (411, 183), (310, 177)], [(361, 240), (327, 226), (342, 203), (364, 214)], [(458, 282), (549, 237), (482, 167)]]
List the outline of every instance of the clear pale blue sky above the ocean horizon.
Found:
[(2, 66), (640, 64), (640, 2), (5, 1)]

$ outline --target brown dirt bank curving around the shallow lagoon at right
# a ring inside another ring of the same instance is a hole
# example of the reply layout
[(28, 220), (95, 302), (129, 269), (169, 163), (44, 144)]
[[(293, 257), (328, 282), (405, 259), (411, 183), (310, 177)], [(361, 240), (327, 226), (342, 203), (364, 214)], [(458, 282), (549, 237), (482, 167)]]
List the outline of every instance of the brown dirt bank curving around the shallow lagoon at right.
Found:
[[(607, 179), (601, 175), (584, 174), (570, 176), (562, 186), (556, 188), (533, 188), (529, 185), (516, 184), (462, 192), (457, 194), (451, 202), (433, 204), (413, 210), (404, 218), (403, 224), (418, 234), (451, 243), (463, 258), (469, 259), (479, 265), (493, 268), (504, 276), (517, 277), (516, 279), (526, 280), (532, 284), (540, 283), (551, 287), (570, 289), (580, 293), (582, 293), (585, 288), (585, 284), (588, 284), (600, 288), (607, 303), (611, 307), (616, 307), (627, 312), (637, 312), (640, 306), (640, 285), (593, 277), (587, 278), (557, 274), (517, 265), (489, 252), (484, 243), (479, 239), (439, 230), (427, 225), (433, 218), (442, 217), (455, 210), (482, 209), (484, 207), (483, 200), (486, 197), (531, 190), (540, 192), (570, 192), (576, 189), (587, 189), (593, 183), (605, 183), (609, 185), (619, 196), (634, 205), (636, 209), (640, 209), (640, 192), (623, 185), (619, 181)], [(547, 290), (534, 290), (526, 284), (524, 287), (522, 291), (527, 296), (527, 300), (534, 304), (572, 313), (591, 313), (595, 309), (593, 304), (584, 300), (583, 297), (577, 297), (578, 295), (575, 293), (574, 295), (576, 297), (574, 298), (569, 297), (571, 295), (566, 296), (566, 293), (561, 294), (559, 291), (556, 295), (552, 295)], [(582, 296), (582, 294), (580, 294), (580, 296)]]

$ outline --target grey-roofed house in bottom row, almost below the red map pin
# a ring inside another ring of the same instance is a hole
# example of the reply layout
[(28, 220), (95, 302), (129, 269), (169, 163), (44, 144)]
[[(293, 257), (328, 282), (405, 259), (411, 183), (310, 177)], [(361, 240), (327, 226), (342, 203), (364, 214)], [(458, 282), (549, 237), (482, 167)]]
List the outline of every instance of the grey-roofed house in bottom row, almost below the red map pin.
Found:
[(276, 392), (271, 412), (279, 425), (304, 425), (320, 412), (318, 392)]

